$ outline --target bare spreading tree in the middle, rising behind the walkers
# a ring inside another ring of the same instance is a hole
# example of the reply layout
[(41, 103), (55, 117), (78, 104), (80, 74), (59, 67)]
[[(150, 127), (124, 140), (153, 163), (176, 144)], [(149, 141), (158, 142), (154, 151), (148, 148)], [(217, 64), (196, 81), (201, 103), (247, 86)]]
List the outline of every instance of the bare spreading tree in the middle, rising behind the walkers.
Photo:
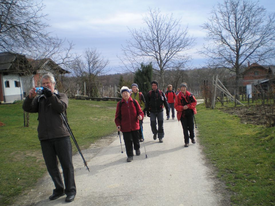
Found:
[(173, 15), (162, 15), (159, 9), (149, 9), (149, 15), (143, 18), (146, 27), (129, 29), (131, 39), (122, 47), (120, 58), (125, 70), (136, 71), (142, 62), (152, 62), (158, 72), (161, 87), (164, 87), (164, 71), (183, 68), (190, 56), (186, 51), (192, 48), (194, 38), (188, 36), (188, 27), (181, 29), (180, 19)]

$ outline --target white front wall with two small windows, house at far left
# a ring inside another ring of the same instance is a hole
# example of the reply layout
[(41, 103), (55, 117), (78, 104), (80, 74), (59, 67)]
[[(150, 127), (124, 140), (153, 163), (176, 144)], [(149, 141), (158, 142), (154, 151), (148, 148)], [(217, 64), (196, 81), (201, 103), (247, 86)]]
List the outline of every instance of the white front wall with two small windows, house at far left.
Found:
[[(3, 88), (3, 96), (4, 102), (14, 102), (16, 100), (23, 99), (23, 91), (22, 91), (22, 82), (18, 75), (16, 74), (8, 74), (8, 75), (1, 75), (2, 77), (2, 88)], [(5, 82), (9, 81), (9, 87), (5, 86)], [(20, 82), (19, 87), (15, 87), (14, 81)]]

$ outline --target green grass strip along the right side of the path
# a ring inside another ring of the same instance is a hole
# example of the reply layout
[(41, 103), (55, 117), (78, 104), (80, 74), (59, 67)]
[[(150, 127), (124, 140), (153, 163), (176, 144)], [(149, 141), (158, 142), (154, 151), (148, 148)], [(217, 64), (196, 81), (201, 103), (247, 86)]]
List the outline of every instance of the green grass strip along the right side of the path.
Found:
[(232, 205), (275, 205), (275, 128), (241, 124), (203, 104), (197, 111), (200, 144), (232, 192)]

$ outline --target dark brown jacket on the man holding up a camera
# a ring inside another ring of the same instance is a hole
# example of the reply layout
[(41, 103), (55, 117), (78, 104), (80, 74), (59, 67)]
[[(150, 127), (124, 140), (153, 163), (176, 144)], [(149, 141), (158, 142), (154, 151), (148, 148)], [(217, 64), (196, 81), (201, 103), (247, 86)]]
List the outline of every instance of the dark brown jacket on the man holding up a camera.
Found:
[(38, 138), (48, 140), (53, 138), (70, 136), (60, 113), (65, 112), (68, 106), (68, 98), (64, 93), (53, 94), (46, 98), (44, 95), (30, 99), (28, 96), (23, 102), (25, 112), (38, 112)]

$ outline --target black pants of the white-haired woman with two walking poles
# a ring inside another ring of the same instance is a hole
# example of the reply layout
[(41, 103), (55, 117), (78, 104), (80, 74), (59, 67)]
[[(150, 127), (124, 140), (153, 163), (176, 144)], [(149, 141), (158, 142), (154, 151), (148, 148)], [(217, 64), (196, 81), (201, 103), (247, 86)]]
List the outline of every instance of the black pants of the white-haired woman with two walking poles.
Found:
[(122, 132), (123, 140), (126, 148), (127, 157), (134, 156), (133, 153), (133, 145), (134, 150), (138, 150), (140, 148), (140, 139), (138, 130), (134, 130), (131, 132)]

